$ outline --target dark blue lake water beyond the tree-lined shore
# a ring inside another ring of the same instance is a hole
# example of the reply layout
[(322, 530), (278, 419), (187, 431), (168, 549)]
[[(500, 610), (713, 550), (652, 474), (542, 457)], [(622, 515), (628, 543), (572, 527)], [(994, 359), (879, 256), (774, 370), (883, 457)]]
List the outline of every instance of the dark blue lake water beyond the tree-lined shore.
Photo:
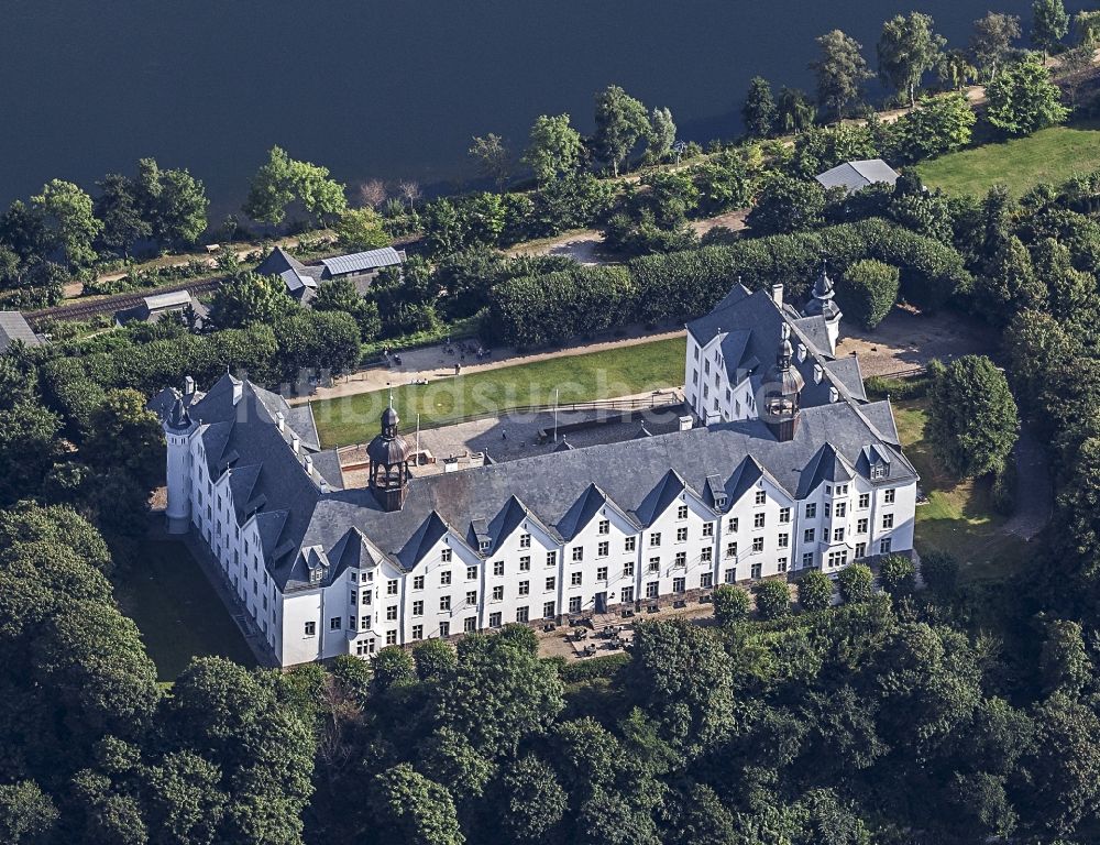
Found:
[[(136, 158), (187, 166), (218, 213), (268, 147), (366, 178), (469, 177), (470, 138), (521, 147), (540, 113), (592, 127), (617, 83), (686, 140), (737, 129), (748, 79), (810, 87), (814, 37), (873, 43), (916, 8), (953, 44), (991, 0), (7, 0), (0, 202)], [(1030, 0), (997, 0), (1028, 19)], [(1075, 9), (1079, 4), (1070, 3)]]

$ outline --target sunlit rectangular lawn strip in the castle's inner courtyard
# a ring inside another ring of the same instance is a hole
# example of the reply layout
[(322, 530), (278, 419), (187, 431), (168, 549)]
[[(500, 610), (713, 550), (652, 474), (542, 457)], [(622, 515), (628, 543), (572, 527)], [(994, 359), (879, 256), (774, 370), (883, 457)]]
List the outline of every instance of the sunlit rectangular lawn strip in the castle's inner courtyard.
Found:
[[(684, 354), (684, 339), (672, 338), (516, 364), (427, 385), (395, 386), (394, 406), (408, 431), (417, 414), (421, 428), (432, 428), (510, 408), (552, 405), (556, 388), (563, 405), (628, 396), (680, 385)], [(315, 402), (321, 443), (331, 448), (369, 440), (387, 402), (386, 391)]]

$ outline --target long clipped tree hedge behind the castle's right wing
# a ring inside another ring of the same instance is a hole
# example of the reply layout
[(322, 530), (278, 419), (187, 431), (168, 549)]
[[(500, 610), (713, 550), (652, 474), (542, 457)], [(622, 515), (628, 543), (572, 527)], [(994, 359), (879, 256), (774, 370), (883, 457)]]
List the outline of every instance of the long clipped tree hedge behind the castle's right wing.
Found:
[(809, 296), (823, 259), (835, 275), (866, 259), (897, 266), (901, 296), (926, 309), (974, 283), (953, 248), (872, 219), (647, 255), (625, 268), (576, 267), (510, 279), (490, 295), (486, 329), (494, 342), (530, 348), (632, 322), (683, 322), (714, 308), (738, 279), (749, 288), (782, 282), (788, 300), (798, 303)]

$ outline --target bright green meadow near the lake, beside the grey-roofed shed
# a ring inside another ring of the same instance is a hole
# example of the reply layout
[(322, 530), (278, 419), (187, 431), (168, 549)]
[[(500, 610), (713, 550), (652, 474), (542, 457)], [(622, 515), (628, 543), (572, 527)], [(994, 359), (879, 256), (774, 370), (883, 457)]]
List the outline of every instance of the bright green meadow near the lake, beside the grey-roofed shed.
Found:
[(1007, 185), (1020, 196), (1040, 183), (1062, 184), (1100, 169), (1100, 122), (1053, 127), (1028, 138), (985, 144), (916, 165), (925, 185), (952, 194), (986, 194)]

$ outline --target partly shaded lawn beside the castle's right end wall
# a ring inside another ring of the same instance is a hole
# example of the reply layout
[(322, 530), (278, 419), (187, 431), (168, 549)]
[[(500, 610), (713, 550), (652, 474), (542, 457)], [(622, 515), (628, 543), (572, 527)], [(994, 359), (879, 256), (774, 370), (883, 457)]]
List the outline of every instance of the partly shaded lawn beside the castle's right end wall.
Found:
[(924, 437), (925, 399), (894, 404), (905, 457), (921, 474), (928, 502), (916, 508), (916, 549), (949, 551), (971, 580), (1003, 575), (1021, 562), (1023, 541), (1004, 535), (1004, 517), (993, 511), (990, 482), (958, 481), (936, 460)]

